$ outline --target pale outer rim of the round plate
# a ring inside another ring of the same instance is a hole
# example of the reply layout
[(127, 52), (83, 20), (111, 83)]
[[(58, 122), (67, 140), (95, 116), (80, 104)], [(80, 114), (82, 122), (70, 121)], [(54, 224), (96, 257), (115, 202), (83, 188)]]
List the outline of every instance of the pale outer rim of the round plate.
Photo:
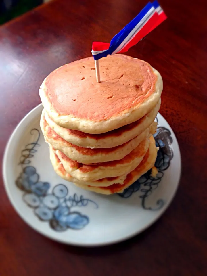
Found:
[(9, 184), (8, 184), (8, 180), (7, 180), (7, 177), (6, 177), (6, 164), (8, 162), (7, 160), (7, 156), (8, 156), (8, 152), (9, 152), (9, 147), (13, 141), (13, 138), (15, 137), (16, 135), (16, 132), (18, 131), (18, 128), (20, 127), (20, 125), (23, 123), (24, 120), (26, 120), (27, 117), (30, 116), (30, 114), (32, 114), (33, 112), (35, 112), (36, 110), (40, 109), (40, 108), (43, 108), (43, 105), (42, 104), (39, 104), (37, 105), (36, 107), (34, 107), (32, 110), (30, 110), (30, 112), (28, 112), (23, 118), (22, 120), (18, 123), (18, 125), (16, 126), (16, 128), (14, 129), (14, 131), (12, 132), (12, 134), (10, 135), (9, 137), (9, 140), (6, 144), (6, 147), (5, 147), (5, 151), (4, 151), (4, 154), (3, 154), (3, 162), (2, 162), (2, 175), (3, 175), (3, 184), (4, 184), (4, 187), (5, 187), (5, 190), (6, 190), (6, 193), (7, 193), (7, 196), (9, 198), (9, 201), (11, 203), (11, 205), (13, 206), (14, 210), (17, 212), (17, 214), (20, 216), (20, 218), (22, 218), (22, 220), (27, 224), (29, 225), (32, 229), (34, 229), (35, 231), (37, 231), (37, 233), (40, 233), (41, 235), (43, 235), (44, 237), (47, 237), (49, 239), (52, 239), (53, 241), (57, 241), (57, 242), (60, 242), (62, 244), (68, 244), (68, 245), (72, 245), (72, 246), (78, 246), (78, 247), (97, 247), (97, 246), (108, 246), (108, 245), (111, 245), (111, 244), (116, 244), (116, 243), (120, 243), (122, 241), (125, 241), (125, 240), (128, 240), (128, 239), (131, 239), (132, 237), (135, 237), (136, 235), (138, 235), (139, 233), (143, 232), (145, 229), (149, 228), (150, 226), (152, 226), (156, 221), (158, 221), (158, 219), (164, 214), (164, 212), (167, 210), (167, 208), (170, 206), (170, 204), (172, 203), (174, 197), (175, 197), (175, 194), (177, 192), (177, 189), (178, 189), (178, 186), (179, 186), (179, 183), (180, 183), (180, 180), (181, 180), (181, 171), (182, 171), (182, 163), (181, 163), (181, 153), (180, 153), (180, 148), (179, 148), (179, 144), (178, 144), (178, 141), (177, 141), (177, 137), (173, 131), (173, 129), (170, 127), (170, 124), (167, 122), (167, 120), (158, 112), (159, 116), (161, 116), (169, 125), (170, 127), (170, 131), (174, 134), (175, 136), (175, 139), (173, 139), (173, 142), (175, 142), (175, 144), (177, 144), (177, 157), (179, 159), (179, 166), (178, 166), (178, 173), (179, 173), (179, 178), (178, 178), (178, 183), (177, 183), (177, 186), (175, 187), (175, 190), (173, 191), (173, 194), (170, 198), (170, 200), (167, 202), (167, 204), (165, 204), (163, 206), (163, 208), (160, 210), (160, 213), (155, 216), (152, 221), (150, 221), (150, 223), (144, 225), (143, 227), (141, 227), (140, 229), (138, 230), (135, 230), (133, 231), (132, 233), (128, 234), (128, 235), (125, 235), (124, 237), (121, 237), (121, 238), (117, 238), (117, 239), (113, 239), (111, 241), (106, 241), (106, 242), (95, 242), (95, 243), (83, 243), (83, 242), (73, 242), (73, 241), (68, 241), (68, 240), (65, 240), (65, 239), (60, 239), (60, 238), (56, 238), (56, 237), (53, 237), (52, 235), (48, 234), (48, 233), (44, 233), (44, 231), (41, 231), (38, 227), (35, 227), (34, 225), (32, 225), (28, 220), (26, 220), (26, 218), (22, 215), (22, 213), (18, 210), (18, 207), (16, 207), (15, 205), (15, 201), (13, 200), (13, 197), (12, 197), (12, 193), (9, 189)]

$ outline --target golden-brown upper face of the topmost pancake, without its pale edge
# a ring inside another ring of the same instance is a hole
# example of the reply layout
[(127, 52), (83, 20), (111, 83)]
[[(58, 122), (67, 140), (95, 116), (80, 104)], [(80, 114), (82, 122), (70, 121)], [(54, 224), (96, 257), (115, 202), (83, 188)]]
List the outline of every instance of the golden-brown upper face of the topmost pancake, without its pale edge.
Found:
[(99, 61), (101, 83), (93, 57), (53, 71), (45, 81), (45, 96), (59, 115), (102, 121), (128, 112), (155, 91), (157, 76), (150, 64), (116, 54)]

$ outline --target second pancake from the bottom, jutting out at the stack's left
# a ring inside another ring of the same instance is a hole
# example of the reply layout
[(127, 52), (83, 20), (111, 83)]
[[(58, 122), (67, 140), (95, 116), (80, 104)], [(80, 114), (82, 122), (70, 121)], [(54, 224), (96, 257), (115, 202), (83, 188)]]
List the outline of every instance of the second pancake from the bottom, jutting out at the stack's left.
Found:
[(83, 181), (80, 181), (80, 180), (72, 177), (69, 173), (66, 172), (66, 170), (64, 169), (64, 166), (60, 162), (60, 159), (58, 158), (57, 154), (51, 147), (50, 147), (50, 160), (51, 160), (51, 163), (52, 163), (53, 168), (54, 168), (55, 172), (57, 173), (57, 175), (59, 175), (60, 177), (62, 177), (63, 179), (65, 179), (67, 181), (76, 182), (77, 184), (80, 184), (80, 185), (90, 185), (90, 186), (95, 186), (95, 187), (98, 187), (98, 186), (107, 187), (107, 186), (110, 186), (115, 183), (124, 184), (124, 180), (127, 178), (127, 175), (121, 175), (121, 176), (117, 176), (117, 177), (102, 178), (102, 179), (92, 181), (92, 182), (83, 182)]

